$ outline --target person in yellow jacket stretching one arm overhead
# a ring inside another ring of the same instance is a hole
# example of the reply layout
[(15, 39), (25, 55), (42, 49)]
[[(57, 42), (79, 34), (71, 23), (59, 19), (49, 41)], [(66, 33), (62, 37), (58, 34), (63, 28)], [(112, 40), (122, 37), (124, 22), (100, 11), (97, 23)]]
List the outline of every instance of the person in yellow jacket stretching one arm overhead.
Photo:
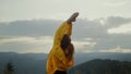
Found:
[[(73, 65), (73, 54), (67, 49), (73, 48), (70, 36), (72, 34), (72, 22), (79, 13), (73, 13), (68, 21), (63, 22), (57, 29), (53, 46), (47, 59), (47, 74), (67, 74), (67, 70)], [(63, 42), (63, 39), (64, 42)]]

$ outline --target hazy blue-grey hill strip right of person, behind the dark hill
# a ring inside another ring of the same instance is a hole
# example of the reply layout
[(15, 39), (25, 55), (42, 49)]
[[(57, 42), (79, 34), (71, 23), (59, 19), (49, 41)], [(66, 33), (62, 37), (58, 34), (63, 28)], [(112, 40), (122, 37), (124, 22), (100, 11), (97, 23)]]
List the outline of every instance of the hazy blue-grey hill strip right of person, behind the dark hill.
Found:
[(91, 61), (94, 59), (110, 59), (118, 61), (131, 61), (131, 53), (116, 53), (116, 52), (88, 52), (75, 53), (75, 65)]

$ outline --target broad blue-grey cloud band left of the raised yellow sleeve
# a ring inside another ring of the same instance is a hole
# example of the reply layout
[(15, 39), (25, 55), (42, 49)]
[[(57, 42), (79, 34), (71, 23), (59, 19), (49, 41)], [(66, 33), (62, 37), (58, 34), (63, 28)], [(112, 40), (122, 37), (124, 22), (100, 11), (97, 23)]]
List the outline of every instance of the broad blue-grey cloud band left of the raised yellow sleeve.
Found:
[(0, 23), (1, 36), (44, 36), (53, 35), (61, 21), (28, 20)]

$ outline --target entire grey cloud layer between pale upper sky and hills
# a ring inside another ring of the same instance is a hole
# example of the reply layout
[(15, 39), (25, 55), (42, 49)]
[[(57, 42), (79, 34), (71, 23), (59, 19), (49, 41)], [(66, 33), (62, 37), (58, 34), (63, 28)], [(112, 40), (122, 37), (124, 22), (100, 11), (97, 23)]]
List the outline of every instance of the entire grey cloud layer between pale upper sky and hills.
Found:
[[(61, 23), (55, 20), (0, 23), (0, 51), (49, 52)], [(72, 42), (78, 52), (108, 50), (118, 45), (130, 50), (130, 23), (131, 17), (121, 16), (78, 18), (73, 23)]]

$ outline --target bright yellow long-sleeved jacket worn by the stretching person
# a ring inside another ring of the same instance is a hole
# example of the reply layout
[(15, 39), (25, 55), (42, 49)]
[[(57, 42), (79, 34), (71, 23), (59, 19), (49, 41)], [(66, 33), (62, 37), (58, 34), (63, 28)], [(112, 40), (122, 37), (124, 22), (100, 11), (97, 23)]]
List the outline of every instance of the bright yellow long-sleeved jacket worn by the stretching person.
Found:
[(68, 24), (63, 22), (61, 26), (58, 28), (53, 39), (53, 47), (49, 52), (47, 60), (47, 74), (53, 74), (57, 70), (66, 71), (68, 67), (72, 66), (74, 61), (68, 60), (64, 55), (63, 50), (60, 47), (60, 41), (64, 34), (71, 36), (72, 33), (72, 24)]

